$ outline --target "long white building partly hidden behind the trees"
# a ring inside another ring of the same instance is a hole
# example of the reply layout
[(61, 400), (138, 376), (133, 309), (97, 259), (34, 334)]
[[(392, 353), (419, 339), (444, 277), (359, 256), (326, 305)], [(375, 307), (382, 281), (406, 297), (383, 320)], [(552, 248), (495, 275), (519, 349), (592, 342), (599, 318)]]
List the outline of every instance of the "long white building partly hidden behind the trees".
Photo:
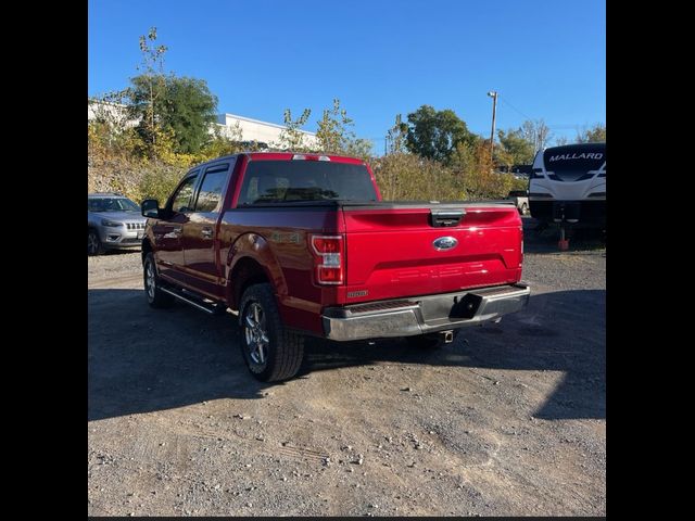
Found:
[[(98, 117), (106, 118), (111, 122), (118, 123), (126, 127), (132, 127), (138, 124), (137, 120), (128, 119), (126, 105), (119, 103), (88, 103), (87, 119), (92, 120)], [(210, 134), (217, 130), (222, 136), (236, 141), (255, 141), (264, 143), (267, 147), (280, 147), (280, 135), (287, 127), (275, 123), (261, 122), (250, 117), (238, 116), (236, 114), (218, 114), (217, 122), (210, 127)], [(316, 134), (300, 130), (304, 135), (305, 147), (318, 145)]]

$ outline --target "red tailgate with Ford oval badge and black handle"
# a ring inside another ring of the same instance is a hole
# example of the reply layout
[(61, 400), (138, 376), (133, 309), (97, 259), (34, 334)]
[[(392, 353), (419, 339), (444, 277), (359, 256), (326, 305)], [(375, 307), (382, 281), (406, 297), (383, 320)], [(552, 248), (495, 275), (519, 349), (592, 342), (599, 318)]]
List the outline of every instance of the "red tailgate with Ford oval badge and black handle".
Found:
[[(447, 218), (457, 213), (463, 214), (460, 220)], [(345, 302), (453, 292), (520, 279), (522, 228), (511, 204), (377, 203), (345, 205), (343, 215)], [(455, 241), (443, 239), (435, 244), (442, 238)]]

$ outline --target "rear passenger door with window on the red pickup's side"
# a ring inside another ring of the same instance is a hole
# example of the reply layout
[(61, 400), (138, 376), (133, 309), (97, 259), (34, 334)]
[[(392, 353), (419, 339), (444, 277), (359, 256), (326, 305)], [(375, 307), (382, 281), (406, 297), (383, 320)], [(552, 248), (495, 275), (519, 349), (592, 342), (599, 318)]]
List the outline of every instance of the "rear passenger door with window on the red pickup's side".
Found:
[(205, 168), (193, 195), (193, 211), (184, 225), (181, 240), (187, 281), (194, 290), (211, 297), (223, 295), (217, 226), (233, 165), (232, 158)]

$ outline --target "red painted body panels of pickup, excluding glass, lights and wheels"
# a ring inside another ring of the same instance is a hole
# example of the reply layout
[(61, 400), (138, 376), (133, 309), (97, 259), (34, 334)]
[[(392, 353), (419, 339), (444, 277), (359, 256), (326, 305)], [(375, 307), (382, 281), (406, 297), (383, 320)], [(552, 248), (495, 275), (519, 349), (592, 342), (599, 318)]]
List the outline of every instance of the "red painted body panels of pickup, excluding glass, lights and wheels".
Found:
[[(250, 162), (293, 161), (292, 156), (249, 153), (211, 162), (213, 166), (229, 163), (231, 168), (216, 212), (149, 220), (146, 242), (155, 254), (160, 275), (236, 309), (239, 288), (235, 284), (249, 274), (257, 277), (254, 269), (260, 267), (275, 288), (285, 325), (318, 335), (324, 334), (320, 315), (328, 306), (520, 280), (522, 229), (511, 204), (456, 203), (466, 213), (458, 225), (445, 228), (431, 226), (430, 209), (435, 205), (428, 203), (238, 207)], [(329, 157), (331, 163), (364, 164), (352, 157)], [(212, 167), (193, 170), (205, 168)], [(367, 170), (381, 201), (368, 165)], [(170, 233), (173, 225), (182, 227), (178, 239)], [(211, 237), (201, 237), (203, 228), (212, 230)], [(312, 234), (343, 238), (343, 283), (316, 282)], [(433, 241), (444, 236), (457, 239), (458, 245), (435, 250)]]

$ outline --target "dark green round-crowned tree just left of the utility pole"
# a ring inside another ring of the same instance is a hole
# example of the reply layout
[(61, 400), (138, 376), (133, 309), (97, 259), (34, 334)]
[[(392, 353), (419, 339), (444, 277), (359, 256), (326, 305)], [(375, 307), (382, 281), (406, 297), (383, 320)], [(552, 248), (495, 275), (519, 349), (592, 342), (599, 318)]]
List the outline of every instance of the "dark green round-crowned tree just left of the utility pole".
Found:
[(475, 136), (454, 111), (435, 111), (422, 105), (408, 114), (407, 149), (421, 157), (447, 164), (460, 142), (472, 143)]

